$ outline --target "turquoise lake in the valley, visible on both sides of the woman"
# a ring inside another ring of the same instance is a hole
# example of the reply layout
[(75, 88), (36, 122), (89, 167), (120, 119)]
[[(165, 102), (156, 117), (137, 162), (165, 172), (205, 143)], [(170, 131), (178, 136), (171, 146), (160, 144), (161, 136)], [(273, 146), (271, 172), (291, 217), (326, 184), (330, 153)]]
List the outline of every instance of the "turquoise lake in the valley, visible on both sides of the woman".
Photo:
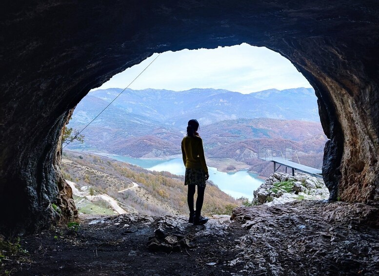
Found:
[[(106, 156), (116, 159), (118, 161), (127, 162), (129, 164), (137, 165), (147, 170), (168, 171), (178, 175), (184, 175), (185, 168), (181, 158), (175, 159), (139, 159), (130, 158), (120, 155)], [(263, 180), (257, 178), (258, 175), (249, 173), (246, 170), (241, 170), (235, 173), (221, 172), (216, 168), (208, 168), (209, 180), (212, 180), (221, 191), (239, 198), (241, 196), (247, 197), (249, 200), (253, 199), (253, 191), (257, 190)]]

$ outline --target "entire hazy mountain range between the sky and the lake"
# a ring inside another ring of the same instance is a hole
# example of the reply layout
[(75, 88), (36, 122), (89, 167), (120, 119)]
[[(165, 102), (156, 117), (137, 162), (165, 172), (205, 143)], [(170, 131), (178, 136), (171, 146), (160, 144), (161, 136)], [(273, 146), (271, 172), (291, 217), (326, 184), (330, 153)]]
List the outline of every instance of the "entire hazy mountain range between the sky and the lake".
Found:
[[(69, 127), (82, 129), (121, 91), (90, 92), (76, 107)], [(251, 94), (221, 89), (126, 89), (85, 129), (85, 143), (68, 148), (103, 149), (131, 157), (178, 155), (192, 118), (199, 120), (208, 157), (251, 163), (259, 145), (281, 141), (301, 152), (320, 153), (326, 142), (313, 88)]]

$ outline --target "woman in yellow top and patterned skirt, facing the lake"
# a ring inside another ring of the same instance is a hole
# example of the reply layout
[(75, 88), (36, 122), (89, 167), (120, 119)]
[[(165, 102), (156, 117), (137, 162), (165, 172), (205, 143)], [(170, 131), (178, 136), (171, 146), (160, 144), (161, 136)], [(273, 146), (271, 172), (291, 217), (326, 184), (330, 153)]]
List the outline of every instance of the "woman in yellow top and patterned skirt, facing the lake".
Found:
[[(202, 225), (208, 221), (207, 217), (200, 215), (204, 200), (205, 181), (209, 178), (207, 164), (205, 163), (202, 139), (197, 132), (199, 122), (195, 119), (188, 121), (187, 136), (181, 141), (181, 152), (185, 166), (184, 185), (188, 185), (187, 202), (190, 210), (188, 222)], [(194, 210), (195, 186), (198, 186), (196, 211)]]

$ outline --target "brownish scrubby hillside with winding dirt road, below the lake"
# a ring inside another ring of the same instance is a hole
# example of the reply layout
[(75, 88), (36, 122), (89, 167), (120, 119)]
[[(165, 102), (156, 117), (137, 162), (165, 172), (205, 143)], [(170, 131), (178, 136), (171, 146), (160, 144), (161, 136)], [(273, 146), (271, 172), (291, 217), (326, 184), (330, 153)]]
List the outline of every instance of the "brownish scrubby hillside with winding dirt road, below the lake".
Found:
[[(71, 151), (63, 153), (61, 167), (64, 177), (75, 182), (79, 190), (87, 191), (88, 195), (107, 194), (127, 212), (149, 215), (188, 213), (183, 176), (144, 170), (106, 157)], [(109, 213), (110, 206), (105, 202), (75, 199), (79, 212)], [(231, 214), (240, 203), (208, 182), (202, 211), (206, 215)]]

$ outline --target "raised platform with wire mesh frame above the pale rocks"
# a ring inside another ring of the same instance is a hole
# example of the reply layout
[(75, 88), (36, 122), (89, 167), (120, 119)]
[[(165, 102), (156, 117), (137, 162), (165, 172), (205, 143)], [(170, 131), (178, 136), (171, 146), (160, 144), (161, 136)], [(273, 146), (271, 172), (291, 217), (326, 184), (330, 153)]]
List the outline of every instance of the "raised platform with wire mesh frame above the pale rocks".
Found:
[[(299, 164), (300, 162), (292, 162), (292, 153), (292, 147), (262, 147), (259, 149), (259, 159), (273, 162), (274, 172), (276, 172), (281, 166), (285, 166), (285, 172), (287, 172), (287, 168), (290, 168), (292, 169), (293, 176), (295, 175), (296, 170), (322, 178), (322, 170), (301, 165)], [(279, 167), (277, 165), (279, 165)]]

